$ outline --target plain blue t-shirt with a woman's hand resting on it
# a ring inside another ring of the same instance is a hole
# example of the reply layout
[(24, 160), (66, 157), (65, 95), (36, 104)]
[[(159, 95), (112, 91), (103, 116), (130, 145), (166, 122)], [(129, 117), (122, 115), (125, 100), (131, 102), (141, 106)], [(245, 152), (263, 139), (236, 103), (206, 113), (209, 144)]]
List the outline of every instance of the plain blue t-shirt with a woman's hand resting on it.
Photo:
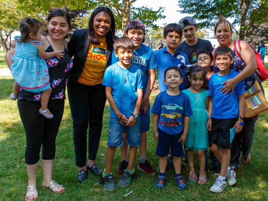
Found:
[(243, 80), (235, 85), (233, 95), (231, 92), (224, 95), (221, 88), (224, 86), (222, 82), (234, 78), (239, 74), (234, 70), (230, 70), (227, 75), (220, 76), (219, 72), (213, 74), (209, 79), (209, 96), (212, 97), (212, 117), (216, 119), (236, 118), (239, 114), (238, 96), (245, 93)]

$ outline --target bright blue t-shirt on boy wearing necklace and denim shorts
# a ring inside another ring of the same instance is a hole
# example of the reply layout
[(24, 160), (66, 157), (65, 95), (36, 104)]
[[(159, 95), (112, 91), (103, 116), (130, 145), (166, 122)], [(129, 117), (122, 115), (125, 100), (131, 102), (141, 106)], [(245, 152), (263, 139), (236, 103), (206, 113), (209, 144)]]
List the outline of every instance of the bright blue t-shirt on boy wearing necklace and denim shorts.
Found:
[[(125, 79), (126, 83), (124, 83)], [(141, 70), (135, 65), (124, 69), (116, 62), (105, 70), (102, 84), (112, 88), (117, 108), (126, 117), (130, 117), (135, 110), (138, 97), (137, 89), (142, 89)], [(110, 117), (117, 118), (111, 106), (110, 111)]]

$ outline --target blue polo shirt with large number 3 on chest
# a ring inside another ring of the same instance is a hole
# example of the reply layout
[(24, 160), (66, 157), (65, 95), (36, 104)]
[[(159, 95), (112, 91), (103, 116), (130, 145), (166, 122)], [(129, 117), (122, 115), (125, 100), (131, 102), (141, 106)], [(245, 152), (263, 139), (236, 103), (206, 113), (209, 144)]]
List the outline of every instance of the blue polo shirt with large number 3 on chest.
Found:
[(165, 46), (162, 50), (155, 50), (154, 55), (158, 71), (159, 91), (162, 92), (168, 89), (168, 85), (164, 83), (164, 71), (170, 66), (176, 66), (180, 69), (183, 76), (183, 83), (180, 84), (179, 89), (180, 91), (184, 90), (186, 80), (185, 70), (186, 65), (189, 64), (186, 54), (180, 52), (179, 48), (177, 48), (177, 52), (172, 55), (167, 51), (167, 47)]

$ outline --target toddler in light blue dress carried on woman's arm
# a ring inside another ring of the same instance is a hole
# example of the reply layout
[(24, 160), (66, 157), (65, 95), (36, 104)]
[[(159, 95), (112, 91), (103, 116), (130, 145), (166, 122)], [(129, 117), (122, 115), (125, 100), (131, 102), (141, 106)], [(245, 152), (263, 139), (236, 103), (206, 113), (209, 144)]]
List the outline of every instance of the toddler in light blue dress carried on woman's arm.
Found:
[(15, 37), (14, 62), (10, 72), (15, 79), (12, 100), (17, 99), (19, 86), (27, 91), (42, 92), (39, 113), (51, 119), (53, 114), (47, 108), (51, 87), (46, 61), (51, 57), (63, 57), (62, 51), (45, 52), (41, 40), (42, 23), (35, 18), (25, 17), (20, 23), (20, 37)]

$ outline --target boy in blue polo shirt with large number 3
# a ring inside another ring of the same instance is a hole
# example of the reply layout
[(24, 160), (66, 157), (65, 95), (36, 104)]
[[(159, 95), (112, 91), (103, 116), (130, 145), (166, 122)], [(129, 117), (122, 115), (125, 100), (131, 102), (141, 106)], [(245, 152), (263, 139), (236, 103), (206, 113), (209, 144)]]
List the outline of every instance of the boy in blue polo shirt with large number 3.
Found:
[(166, 42), (166, 46), (162, 50), (155, 50), (154, 55), (156, 58), (157, 71), (158, 71), (158, 84), (159, 91), (162, 92), (168, 89), (168, 86), (164, 83), (164, 71), (169, 66), (176, 66), (180, 69), (183, 82), (180, 84), (180, 90), (185, 89), (186, 80), (186, 65), (189, 64), (188, 58), (185, 53), (180, 52), (178, 45), (181, 42), (182, 29), (176, 23), (168, 24), (164, 27), (163, 39)]

